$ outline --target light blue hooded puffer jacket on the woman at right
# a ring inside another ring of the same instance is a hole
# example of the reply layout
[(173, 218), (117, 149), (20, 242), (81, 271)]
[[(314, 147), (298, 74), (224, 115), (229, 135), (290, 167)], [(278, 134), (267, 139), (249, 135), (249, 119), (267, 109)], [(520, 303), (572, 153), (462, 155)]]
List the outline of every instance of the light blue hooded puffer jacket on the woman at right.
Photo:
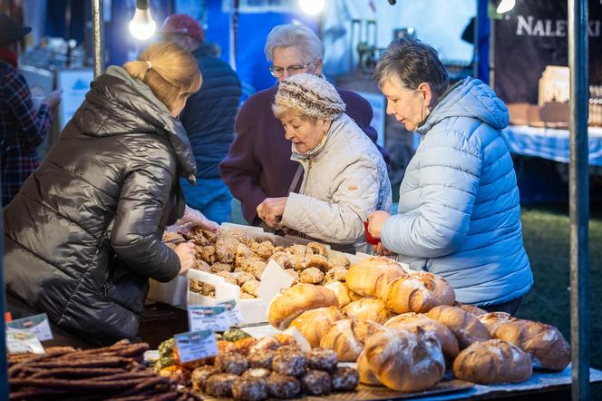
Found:
[(508, 109), (467, 78), (435, 105), (386, 220), (384, 247), (413, 269), (447, 279), (456, 298), (481, 306), (510, 301), (533, 283), (522, 245), (519, 189), (500, 130)]

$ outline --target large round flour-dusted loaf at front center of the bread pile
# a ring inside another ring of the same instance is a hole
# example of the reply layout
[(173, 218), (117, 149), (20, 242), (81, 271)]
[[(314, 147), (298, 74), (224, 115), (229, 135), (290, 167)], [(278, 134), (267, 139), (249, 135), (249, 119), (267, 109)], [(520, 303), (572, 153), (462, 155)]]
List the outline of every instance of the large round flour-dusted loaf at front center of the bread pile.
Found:
[(364, 354), (376, 378), (397, 391), (431, 388), (445, 373), (439, 341), (421, 328), (415, 333), (401, 328), (376, 333), (368, 338)]

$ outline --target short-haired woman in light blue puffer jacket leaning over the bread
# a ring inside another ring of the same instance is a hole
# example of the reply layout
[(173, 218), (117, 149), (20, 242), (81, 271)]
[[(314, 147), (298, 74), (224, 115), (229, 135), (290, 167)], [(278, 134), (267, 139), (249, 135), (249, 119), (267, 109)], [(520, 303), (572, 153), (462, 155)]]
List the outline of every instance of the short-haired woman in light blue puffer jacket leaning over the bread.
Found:
[(508, 108), (479, 80), (450, 85), (437, 52), (418, 41), (390, 44), (374, 76), (387, 113), (422, 140), (403, 177), (399, 213), (372, 213), (370, 234), (413, 269), (450, 281), (459, 301), (514, 314), (533, 275), (500, 133)]

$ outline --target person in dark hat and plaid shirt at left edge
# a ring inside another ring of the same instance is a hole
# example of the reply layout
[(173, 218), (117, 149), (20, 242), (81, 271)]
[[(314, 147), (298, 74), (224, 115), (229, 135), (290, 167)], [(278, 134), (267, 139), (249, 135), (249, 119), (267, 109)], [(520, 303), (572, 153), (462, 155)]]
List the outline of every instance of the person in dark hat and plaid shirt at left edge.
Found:
[(0, 13), (0, 161), (2, 204), (13, 200), (25, 179), (40, 164), (37, 147), (44, 142), (54, 120), (61, 93), (50, 93), (36, 110), (32, 93), (17, 72), (19, 42), (32, 30)]

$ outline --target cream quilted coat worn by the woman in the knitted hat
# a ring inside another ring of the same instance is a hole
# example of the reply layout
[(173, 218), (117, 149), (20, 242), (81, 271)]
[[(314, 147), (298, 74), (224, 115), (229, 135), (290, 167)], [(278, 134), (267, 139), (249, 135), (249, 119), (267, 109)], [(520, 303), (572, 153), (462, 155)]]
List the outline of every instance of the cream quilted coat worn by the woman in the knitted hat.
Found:
[(374, 210), (391, 210), (391, 183), (383, 156), (370, 138), (341, 114), (330, 126), (322, 149), (296, 152), (305, 175), (300, 193), (291, 192), (282, 224), (316, 240), (364, 241), (364, 220)]

